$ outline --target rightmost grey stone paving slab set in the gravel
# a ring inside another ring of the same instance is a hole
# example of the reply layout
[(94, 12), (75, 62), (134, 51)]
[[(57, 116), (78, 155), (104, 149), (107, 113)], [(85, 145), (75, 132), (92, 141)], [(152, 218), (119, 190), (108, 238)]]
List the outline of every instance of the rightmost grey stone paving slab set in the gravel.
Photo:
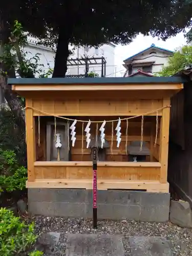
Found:
[(173, 256), (169, 243), (162, 237), (131, 237), (129, 242), (132, 256)]

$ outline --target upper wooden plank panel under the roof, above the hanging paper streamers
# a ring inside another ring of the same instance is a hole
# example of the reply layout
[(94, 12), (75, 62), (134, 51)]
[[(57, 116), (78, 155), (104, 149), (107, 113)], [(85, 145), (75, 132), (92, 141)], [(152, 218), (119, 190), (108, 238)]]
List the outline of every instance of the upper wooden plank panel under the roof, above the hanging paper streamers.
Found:
[[(57, 116), (140, 115), (162, 108), (159, 99), (33, 99), (33, 108)], [(34, 115), (45, 115), (34, 111)], [(156, 113), (150, 114), (152, 116)], [(161, 115), (161, 111), (159, 111)]]

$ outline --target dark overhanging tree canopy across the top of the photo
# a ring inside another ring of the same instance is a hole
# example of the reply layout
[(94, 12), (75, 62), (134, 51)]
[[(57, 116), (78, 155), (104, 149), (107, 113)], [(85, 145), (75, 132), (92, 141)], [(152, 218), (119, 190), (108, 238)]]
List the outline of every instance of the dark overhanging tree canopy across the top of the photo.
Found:
[[(46, 6), (36, 1), (30, 11), (35, 13), (34, 24), (38, 25), (31, 28), (31, 17), (28, 24), (24, 22), (30, 27), (28, 31), (48, 46), (57, 42), (61, 31), (69, 33), (70, 42), (75, 45), (127, 44), (139, 33), (151, 33), (163, 39), (177, 34), (190, 24), (191, 8), (189, 0), (122, 0), (118, 3), (58, 0), (47, 1)], [(71, 22), (66, 28), (67, 20)]]

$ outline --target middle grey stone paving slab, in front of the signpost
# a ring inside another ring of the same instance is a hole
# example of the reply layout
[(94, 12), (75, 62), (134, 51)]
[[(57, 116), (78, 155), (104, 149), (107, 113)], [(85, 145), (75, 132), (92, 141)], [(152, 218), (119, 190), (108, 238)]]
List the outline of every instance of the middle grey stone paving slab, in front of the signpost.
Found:
[(122, 238), (108, 234), (68, 234), (66, 256), (91, 255), (124, 256)]

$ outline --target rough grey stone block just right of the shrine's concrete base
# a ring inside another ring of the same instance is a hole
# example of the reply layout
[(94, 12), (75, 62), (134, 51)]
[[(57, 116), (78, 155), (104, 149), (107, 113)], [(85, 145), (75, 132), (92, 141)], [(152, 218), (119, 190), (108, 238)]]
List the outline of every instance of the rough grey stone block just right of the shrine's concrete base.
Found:
[(188, 202), (170, 201), (170, 222), (180, 227), (192, 227), (192, 215)]

